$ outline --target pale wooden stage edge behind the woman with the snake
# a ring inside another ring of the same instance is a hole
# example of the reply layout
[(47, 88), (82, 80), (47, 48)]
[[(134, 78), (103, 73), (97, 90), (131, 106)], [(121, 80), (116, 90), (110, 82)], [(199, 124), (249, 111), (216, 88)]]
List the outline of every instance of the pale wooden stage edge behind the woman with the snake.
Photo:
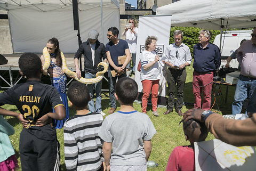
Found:
[[(42, 53), (36, 53), (38, 56), (41, 56)], [(7, 64), (0, 65), (0, 71), (1, 70), (19, 70), (19, 58), (22, 55), (22, 53), (13, 53), (13, 54), (4, 54), (3, 56), (8, 60)], [(74, 64), (74, 56), (75, 54), (64, 54), (66, 58), (67, 67), (71, 71), (75, 71), (75, 64)], [(82, 70), (84, 69), (84, 58), (82, 56)]]

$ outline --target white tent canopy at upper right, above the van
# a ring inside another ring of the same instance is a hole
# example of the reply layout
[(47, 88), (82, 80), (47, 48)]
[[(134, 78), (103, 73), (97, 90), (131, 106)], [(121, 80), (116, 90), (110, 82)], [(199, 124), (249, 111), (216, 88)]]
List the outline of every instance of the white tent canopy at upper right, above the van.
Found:
[(255, 27), (255, 8), (255, 0), (181, 0), (158, 7), (156, 14), (171, 14), (171, 26), (220, 30)]

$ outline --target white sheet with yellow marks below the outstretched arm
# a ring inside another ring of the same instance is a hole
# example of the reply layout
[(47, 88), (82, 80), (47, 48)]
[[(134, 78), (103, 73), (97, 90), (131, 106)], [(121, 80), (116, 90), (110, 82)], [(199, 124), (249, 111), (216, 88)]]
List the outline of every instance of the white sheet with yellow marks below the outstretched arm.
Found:
[(217, 139), (195, 142), (196, 171), (255, 170), (254, 146), (234, 146)]

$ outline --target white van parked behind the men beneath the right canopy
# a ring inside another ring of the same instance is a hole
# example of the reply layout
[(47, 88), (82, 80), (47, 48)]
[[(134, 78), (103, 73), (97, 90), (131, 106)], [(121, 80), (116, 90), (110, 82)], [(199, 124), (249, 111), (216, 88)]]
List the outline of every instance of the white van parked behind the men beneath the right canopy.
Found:
[[(243, 39), (251, 39), (251, 34), (253, 30), (234, 30), (234, 31), (224, 31), (222, 34), (221, 43), (221, 66), (225, 66), (227, 63), (227, 58), (240, 46), (240, 42)], [(217, 35), (214, 39), (213, 44), (220, 48), (220, 35)], [(238, 68), (238, 61), (232, 59), (229, 66), (231, 68)]]

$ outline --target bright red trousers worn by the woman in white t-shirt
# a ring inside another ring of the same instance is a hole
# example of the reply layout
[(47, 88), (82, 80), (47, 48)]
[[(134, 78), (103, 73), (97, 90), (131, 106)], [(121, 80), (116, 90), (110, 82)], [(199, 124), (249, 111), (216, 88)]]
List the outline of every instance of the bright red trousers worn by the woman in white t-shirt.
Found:
[(141, 83), (143, 87), (142, 112), (147, 113), (147, 105), (148, 105), (148, 98), (150, 95), (150, 91), (152, 94), (151, 95), (152, 110), (156, 111), (159, 79), (157, 80), (145, 79)]

